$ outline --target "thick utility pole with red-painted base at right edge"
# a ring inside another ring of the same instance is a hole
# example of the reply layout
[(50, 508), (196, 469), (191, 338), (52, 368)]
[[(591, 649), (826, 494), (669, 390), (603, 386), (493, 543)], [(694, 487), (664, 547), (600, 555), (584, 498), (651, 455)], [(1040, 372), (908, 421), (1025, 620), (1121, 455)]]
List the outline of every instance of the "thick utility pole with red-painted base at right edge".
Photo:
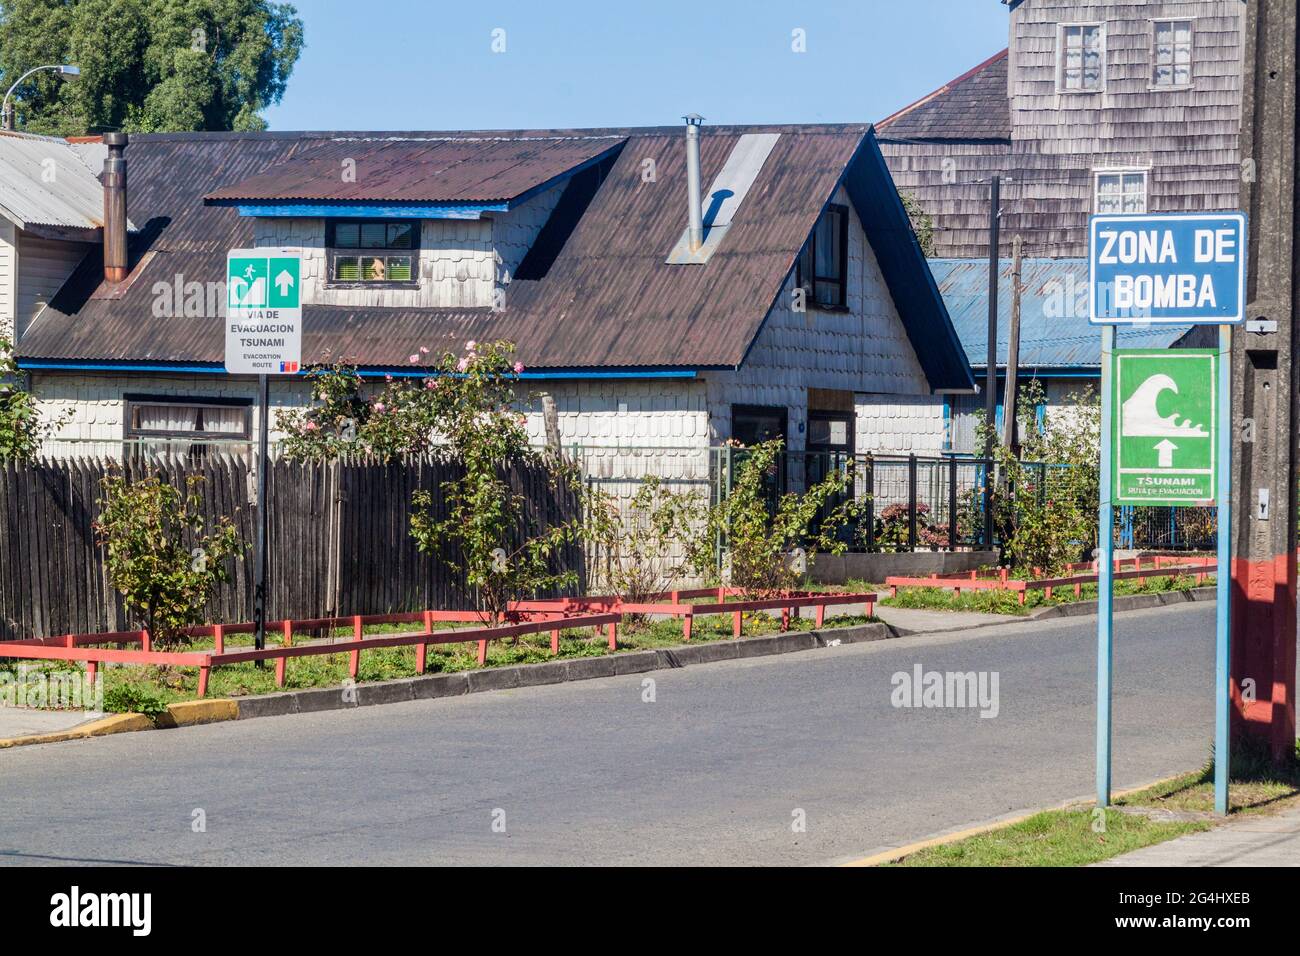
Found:
[(1245, 13), (1242, 207), (1247, 324), (1232, 334), (1234, 741), (1291, 760), (1296, 736), (1296, 3)]

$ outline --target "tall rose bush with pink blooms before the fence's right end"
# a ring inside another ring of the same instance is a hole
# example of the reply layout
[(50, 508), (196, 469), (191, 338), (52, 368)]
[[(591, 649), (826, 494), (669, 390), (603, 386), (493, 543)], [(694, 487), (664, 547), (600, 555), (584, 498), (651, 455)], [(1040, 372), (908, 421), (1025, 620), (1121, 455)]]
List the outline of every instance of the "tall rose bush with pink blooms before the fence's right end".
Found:
[(575, 570), (556, 570), (559, 554), (585, 535), (581, 519), (559, 524), (528, 512), (528, 499), (510, 483), (512, 468), (538, 468), (555, 490), (577, 493), (576, 475), (529, 447), (525, 419), (512, 408), (524, 367), (510, 342), (469, 342), (447, 352), (425, 392), (430, 421), (464, 475), (441, 486), (446, 518), (434, 498), (416, 492), (411, 535), (421, 551), (442, 562), (478, 596), (486, 619), (499, 623), (511, 601), (577, 583)]

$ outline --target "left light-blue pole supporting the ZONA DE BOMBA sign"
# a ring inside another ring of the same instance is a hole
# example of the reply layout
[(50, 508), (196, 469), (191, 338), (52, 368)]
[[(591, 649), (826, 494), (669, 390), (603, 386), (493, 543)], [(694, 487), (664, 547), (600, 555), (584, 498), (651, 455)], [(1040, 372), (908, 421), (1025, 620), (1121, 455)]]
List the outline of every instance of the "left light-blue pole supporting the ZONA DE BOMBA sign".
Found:
[(1112, 503), (1110, 354), (1115, 326), (1101, 326), (1101, 493), (1097, 502), (1097, 806), (1110, 805), (1110, 675), (1114, 653), (1114, 562), (1115, 510)]

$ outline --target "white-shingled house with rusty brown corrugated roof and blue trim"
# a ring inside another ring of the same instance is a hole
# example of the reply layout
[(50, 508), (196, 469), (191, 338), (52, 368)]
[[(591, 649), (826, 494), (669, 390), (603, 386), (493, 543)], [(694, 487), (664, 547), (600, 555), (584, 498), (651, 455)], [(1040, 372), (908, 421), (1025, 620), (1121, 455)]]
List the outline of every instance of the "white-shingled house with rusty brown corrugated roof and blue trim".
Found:
[[(254, 434), (218, 287), (248, 246), (302, 255), (306, 364), (420, 375), (421, 346), (516, 342), (538, 441), (541, 393), (566, 445), (872, 451), (909, 444), (918, 410), (935, 428), (936, 393), (974, 384), (871, 127), (705, 127), (698, 247), (684, 139), (134, 135), (125, 278), (91, 247), (18, 339), (43, 405), (72, 412), (52, 450)], [(309, 401), (273, 378), (273, 406)]]

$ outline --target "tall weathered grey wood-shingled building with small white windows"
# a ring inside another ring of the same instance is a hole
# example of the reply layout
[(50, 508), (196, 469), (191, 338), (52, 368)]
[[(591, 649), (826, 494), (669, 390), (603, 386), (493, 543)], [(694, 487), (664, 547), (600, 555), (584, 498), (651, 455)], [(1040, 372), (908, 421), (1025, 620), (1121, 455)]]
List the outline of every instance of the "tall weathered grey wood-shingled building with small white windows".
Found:
[(993, 173), (1004, 254), (1086, 255), (1095, 212), (1238, 207), (1244, 0), (1008, 7), (1006, 51), (879, 124), (935, 255), (988, 255)]

